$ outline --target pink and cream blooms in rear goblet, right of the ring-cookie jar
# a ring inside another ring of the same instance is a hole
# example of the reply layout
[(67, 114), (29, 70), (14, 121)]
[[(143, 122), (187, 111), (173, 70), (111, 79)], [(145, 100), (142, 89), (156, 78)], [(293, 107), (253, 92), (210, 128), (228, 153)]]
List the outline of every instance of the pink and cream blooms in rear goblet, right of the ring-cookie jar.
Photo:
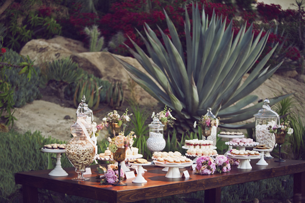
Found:
[(103, 118), (102, 123), (97, 125), (97, 132), (104, 129), (105, 127), (109, 126), (109, 123), (117, 123), (118, 126), (121, 126), (122, 124), (126, 124), (130, 121), (130, 116), (132, 114), (128, 114), (128, 109), (126, 109), (126, 112), (123, 115), (119, 115), (116, 110), (113, 110), (113, 112), (109, 112), (105, 118)]

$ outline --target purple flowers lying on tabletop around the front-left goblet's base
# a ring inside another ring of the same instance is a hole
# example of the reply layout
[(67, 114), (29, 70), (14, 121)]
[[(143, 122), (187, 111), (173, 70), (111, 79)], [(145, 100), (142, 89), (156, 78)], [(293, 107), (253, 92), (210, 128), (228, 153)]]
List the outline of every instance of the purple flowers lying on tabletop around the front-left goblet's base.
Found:
[[(118, 181), (118, 167), (115, 164), (109, 164), (106, 169), (104, 166), (97, 167), (99, 173), (103, 175), (97, 175), (97, 179), (100, 179), (101, 183), (112, 184)], [(124, 170), (120, 170), (120, 179), (123, 180), (125, 176)]]

